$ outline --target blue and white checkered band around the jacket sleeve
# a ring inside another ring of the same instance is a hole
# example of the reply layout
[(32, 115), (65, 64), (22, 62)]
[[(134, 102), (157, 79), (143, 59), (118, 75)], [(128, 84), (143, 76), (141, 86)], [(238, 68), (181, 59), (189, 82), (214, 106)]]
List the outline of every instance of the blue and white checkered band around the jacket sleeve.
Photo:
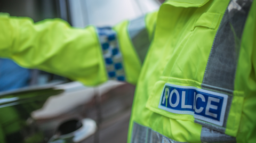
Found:
[(110, 27), (97, 28), (108, 78), (125, 81), (122, 54), (119, 50), (116, 32)]

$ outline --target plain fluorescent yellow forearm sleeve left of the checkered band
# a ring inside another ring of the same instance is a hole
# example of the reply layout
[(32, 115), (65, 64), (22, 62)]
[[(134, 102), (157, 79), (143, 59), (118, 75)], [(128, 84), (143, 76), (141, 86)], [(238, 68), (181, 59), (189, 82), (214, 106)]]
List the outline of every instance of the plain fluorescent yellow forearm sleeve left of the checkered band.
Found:
[(106, 81), (101, 47), (94, 27), (72, 28), (61, 19), (34, 23), (0, 14), (0, 56), (25, 68), (59, 74), (93, 86)]

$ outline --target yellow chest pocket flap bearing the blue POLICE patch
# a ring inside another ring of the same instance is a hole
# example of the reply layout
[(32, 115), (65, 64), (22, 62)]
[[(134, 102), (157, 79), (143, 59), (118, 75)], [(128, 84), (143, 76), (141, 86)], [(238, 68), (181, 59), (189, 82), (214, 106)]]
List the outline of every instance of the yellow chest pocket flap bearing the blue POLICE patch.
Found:
[(241, 91), (230, 96), (201, 89), (200, 83), (193, 80), (170, 78), (155, 83), (146, 107), (171, 119), (195, 122), (235, 137), (243, 99)]

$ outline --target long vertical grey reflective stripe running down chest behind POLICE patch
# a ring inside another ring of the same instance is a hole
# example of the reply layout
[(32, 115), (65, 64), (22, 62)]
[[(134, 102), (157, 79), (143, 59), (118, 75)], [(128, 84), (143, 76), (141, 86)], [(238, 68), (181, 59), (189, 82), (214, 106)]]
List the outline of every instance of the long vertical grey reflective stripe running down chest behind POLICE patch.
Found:
[(233, 99), (235, 74), (243, 29), (252, 0), (231, 0), (215, 35), (207, 61), (202, 89), (229, 95), (222, 127), (195, 119), (196, 123), (225, 133)]

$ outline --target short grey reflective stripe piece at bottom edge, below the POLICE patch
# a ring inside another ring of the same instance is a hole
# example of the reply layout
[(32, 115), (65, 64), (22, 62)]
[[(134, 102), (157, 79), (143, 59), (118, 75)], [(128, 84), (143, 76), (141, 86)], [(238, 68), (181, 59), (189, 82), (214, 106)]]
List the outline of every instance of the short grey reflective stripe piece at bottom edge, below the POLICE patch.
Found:
[(202, 127), (201, 131), (202, 142), (236, 142), (236, 138), (228, 136), (225, 133), (214, 131), (212, 129)]

